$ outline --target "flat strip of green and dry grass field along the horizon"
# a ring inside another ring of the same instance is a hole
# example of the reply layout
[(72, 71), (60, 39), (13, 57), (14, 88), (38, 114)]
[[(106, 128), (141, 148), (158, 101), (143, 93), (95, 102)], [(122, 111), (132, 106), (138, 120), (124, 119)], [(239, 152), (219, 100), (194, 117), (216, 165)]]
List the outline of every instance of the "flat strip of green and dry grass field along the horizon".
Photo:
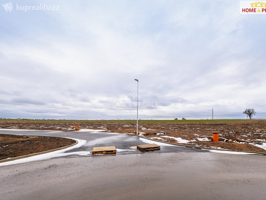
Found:
[[(21, 124), (44, 124), (44, 123), (136, 123), (136, 120), (49, 120), (49, 119), (0, 119), (0, 123), (21, 123)], [(248, 119), (187, 119), (187, 120), (139, 120), (141, 123), (178, 123), (178, 124), (231, 124), (231, 125), (264, 125), (266, 120), (248, 120)]]

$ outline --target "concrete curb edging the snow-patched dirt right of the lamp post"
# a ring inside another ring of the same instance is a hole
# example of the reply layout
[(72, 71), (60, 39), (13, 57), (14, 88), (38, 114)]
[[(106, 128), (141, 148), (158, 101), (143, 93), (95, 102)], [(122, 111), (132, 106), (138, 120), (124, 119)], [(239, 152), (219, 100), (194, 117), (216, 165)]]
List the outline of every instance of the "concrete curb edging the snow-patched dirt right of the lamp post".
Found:
[[(102, 132), (102, 133), (106, 133), (106, 132)], [(164, 141), (160, 141), (160, 140), (154, 140), (154, 139), (150, 139), (150, 138), (147, 138), (147, 137), (137, 136), (137, 135), (132, 135), (132, 134), (126, 134), (126, 133), (120, 133), (120, 134), (141, 137), (141, 138), (144, 138), (144, 139), (147, 139), (147, 140), (151, 140), (151, 141), (154, 141), (154, 142), (162, 142), (162, 143), (165, 143), (165, 144), (172, 144), (172, 145), (180, 146), (180, 147), (189, 147), (189, 148), (206, 149), (206, 150), (217, 150), (217, 151), (231, 151), (231, 152), (243, 152), (243, 153), (256, 153), (256, 154), (260, 154), (260, 155), (266, 155), (266, 153), (262, 153), (262, 152), (240, 151), (240, 150), (231, 150), (231, 149), (216, 149), (216, 148), (210, 148), (210, 147), (200, 147), (200, 146), (193, 146), (193, 145), (176, 144), (176, 143), (164, 142)]]

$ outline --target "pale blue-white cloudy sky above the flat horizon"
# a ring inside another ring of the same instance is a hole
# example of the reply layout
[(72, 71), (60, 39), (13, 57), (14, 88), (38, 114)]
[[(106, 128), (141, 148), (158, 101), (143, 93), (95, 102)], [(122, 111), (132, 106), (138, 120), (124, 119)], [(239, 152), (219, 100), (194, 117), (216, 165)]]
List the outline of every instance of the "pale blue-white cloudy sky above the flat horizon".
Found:
[(0, 117), (136, 119), (134, 79), (140, 119), (266, 116), (266, 15), (239, 1), (0, 1)]

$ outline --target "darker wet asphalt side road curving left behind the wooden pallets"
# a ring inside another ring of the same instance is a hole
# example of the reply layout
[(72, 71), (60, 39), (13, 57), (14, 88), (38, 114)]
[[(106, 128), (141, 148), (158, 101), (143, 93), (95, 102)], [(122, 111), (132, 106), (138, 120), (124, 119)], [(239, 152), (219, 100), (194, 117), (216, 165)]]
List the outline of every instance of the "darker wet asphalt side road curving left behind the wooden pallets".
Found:
[[(178, 146), (161, 146), (160, 150), (153, 150), (149, 152), (141, 152), (138, 149), (132, 151), (130, 147), (147, 144), (142, 142), (139, 137), (122, 135), (122, 134), (109, 134), (109, 133), (98, 133), (98, 132), (67, 132), (67, 131), (2, 131), (1, 134), (22, 134), (30, 136), (56, 136), (56, 137), (70, 137), (86, 140), (87, 143), (79, 148), (74, 148), (68, 152), (79, 152), (79, 151), (92, 151), (93, 147), (107, 147), (115, 146), (117, 149), (129, 150), (123, 152), (117, 152), (117, 155), (121, 154), (136, 154), (136, 153), (178, 153), (178, 152), (208, 152), (207, 150), (196, 149), (196, 148), (187, 148), (187, 147), (178, 147)], [(92, 155), (89, 155), (92, 156)], [(94, 156), (94, 155), (93, 155)], [(97, 156), (97, 155), (96, 155)], [(110, 156), (106, 154), (105, 156)], [(64, 156), (67, 158), (80, 157), (78, 155), (68, 155)], [(56, 157), (62, 158), (62, 157)]]

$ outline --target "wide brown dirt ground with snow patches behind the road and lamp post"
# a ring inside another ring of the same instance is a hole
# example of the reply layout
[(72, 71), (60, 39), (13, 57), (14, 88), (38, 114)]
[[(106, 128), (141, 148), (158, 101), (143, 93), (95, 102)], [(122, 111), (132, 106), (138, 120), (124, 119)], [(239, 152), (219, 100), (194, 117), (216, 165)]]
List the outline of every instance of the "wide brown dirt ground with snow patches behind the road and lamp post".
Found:
[[(75, 124), (43, 123), (43, 124), (0, 124), (0, 128), (34, 129), (75, 131)], [(80, 129), (101, 129), (103, 132), (116, 132), (136, 134), (136, 124), (132, 123), (83, 123), (78, 124)], [(180, 137), (189, 140), (187, 144), (202, 147), (216, 147), (231, 150), (257, 151), (266, 150), (252, 144), (262, 145), (266, 143), (265, 125), (209, 125), (209, 124), (178, 124), (178, 123), (140, 123), (139, 131), (143, 136), (166, 142), (178, 143), (172, 138), (162, 136)], [(219, 132), (219, 142), (212, 142), (212, 133)], [(157, 135), (161, 133), (163, 135)], [(208, 138), (210, 141), (199, 141), (198, 138)], [(242, 143), (239, 143), (242, 142)], [(252, 143), (252, 144), (250, 144)], [(182, 144), (182, 143), (179, 143)]]

